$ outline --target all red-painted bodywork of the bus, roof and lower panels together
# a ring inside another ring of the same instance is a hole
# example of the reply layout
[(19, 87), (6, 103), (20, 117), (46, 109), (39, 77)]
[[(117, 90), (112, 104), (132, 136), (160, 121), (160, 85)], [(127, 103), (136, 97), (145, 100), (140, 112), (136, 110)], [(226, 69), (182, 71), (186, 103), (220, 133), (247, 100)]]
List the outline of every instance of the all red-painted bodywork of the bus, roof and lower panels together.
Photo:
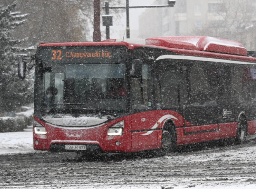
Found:
[[(179, 39), (179, 37), (177, 39)], [(164, 37), (161, 39), (157, 37), (147, 39), (146, 45), (130, 44), (124, 41), (115, 42), (115, 40), (111, 39), (106, 40), (105, 42), (52, 43), (40, 44), (39, 46), (123, 45), (126, 46), (128, 50), (133, 50), (134, 48), (139, 47), (151, 47), (156, 49), (165, 49), (175, 53), (176, 55), (256, 62), (256, 58), (246, 56), (246, 49), (240, 46), (239, 43), (236, 44), (236, 47), (228, 47), (225, 45), (218, 46), (216, 44), (209, 44), (206, 46), (207, 44), (204, 41), (205, 38), (202, 37), (200, 39), (201, 42), (199, 41), (200, 43), (197, 46), (194, 46), (190, 43), (186, 43), (185, 41), (173, 42), (170, 39), (168, 42), (168, 40), (169, 39), (165, 39)], [(228, 40), (226, 40), (226, 42), (228, 42)], [(240, 51), (238, 51), (238, 49)], [(233, 138), (237, 135), (237, 122), (197, 126), (189, 123), (187, 120), (184, 120), (183, 116), (179, 113), (166, 110), (135, 113), (97, 127), (76, 127), (75, 129), (73, 127), (67, 128), (47, 124), (36, 117), (34, 117), (34, 120), (42, 124), (47, 131), (46, 135), (38, 135), (33, 132), (33, 144), (35, 150), (50, 150), (51, 144), (54, 143), (96, 144), (100, 146), (103, 152), (136, 152), (161, 148), (161, 129), (167, 120), (171, 120), (175, 124), (177, 145)], [(109, 127), (122, 120), (125, 122), (123, 134), (121, 136), (107, 136)], [(247, 124), (247, 134), (256, 134), (256, 121), (248, 121)], [(81, 137), (76, 138), (73, 136)], [(38, 141), (37, 145), (35, 144), (36, 140)], [(120, 145), (116, 145), (117, 141)]]

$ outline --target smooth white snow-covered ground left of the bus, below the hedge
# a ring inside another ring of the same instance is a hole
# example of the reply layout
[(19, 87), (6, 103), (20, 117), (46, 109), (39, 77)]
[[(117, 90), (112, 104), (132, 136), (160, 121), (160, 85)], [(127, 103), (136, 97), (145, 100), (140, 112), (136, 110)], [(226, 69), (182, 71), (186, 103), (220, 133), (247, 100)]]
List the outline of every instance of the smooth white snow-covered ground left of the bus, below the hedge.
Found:
[(32, 131), (0, 133), (0, 154), (27, 152), (35, 152)]

